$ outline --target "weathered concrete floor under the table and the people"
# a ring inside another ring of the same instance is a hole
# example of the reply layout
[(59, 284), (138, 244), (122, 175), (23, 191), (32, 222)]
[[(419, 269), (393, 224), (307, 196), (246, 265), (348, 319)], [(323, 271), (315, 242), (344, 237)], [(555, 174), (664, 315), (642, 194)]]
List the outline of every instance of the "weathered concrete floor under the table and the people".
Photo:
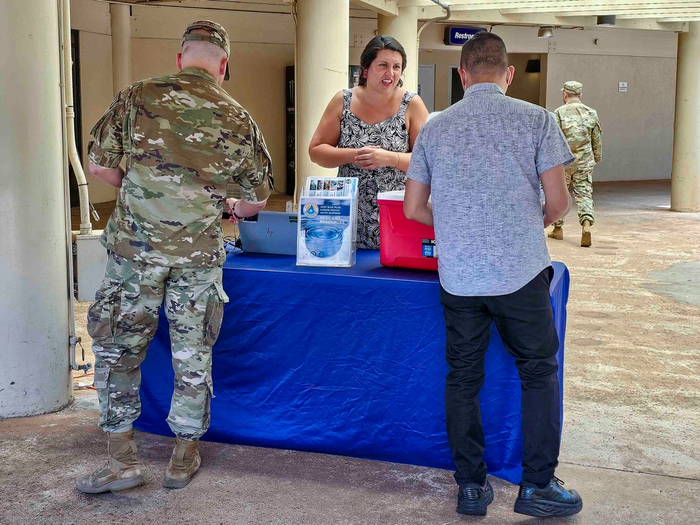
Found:
[(572, 275), (557, 474), (584, 498), (576, 517), (514, 514), (517, 487), (498, 479), (489, 516), (460, 517), (445, 470), (209, 442), (193, 483), (167, 491), (172, 442), (145, 433), (146, 486), (85, 496), (73, 479), (102, 464), (104, 437), (83, 390), (57, 414), (0, 420), (0, 524), (700, 524), (700, 214), (671, 213), (668, 195), (598, 184), (593, 247), (575, 219), (548, 239)]

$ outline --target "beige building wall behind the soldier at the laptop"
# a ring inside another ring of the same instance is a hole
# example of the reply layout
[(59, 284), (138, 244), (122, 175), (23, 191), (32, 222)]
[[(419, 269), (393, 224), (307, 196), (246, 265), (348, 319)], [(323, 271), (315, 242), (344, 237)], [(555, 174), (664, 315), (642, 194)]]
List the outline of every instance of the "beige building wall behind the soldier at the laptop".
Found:
[[(87, 172), (90, 130), (112, 102), (109, 4), (71, 3), (73, 29), (80, 31), (83, 164)], [(258, 123), (272, 155), (275, 188), (286, 188), (285, 66), (294, 64), (293, 22), (289, 15), (220, 13), (167, 8), (132, 9), (132, 78), (176, 73), (175, 55), (183, 29), (197, 18), (214, 18), (229, 28), (231, 80), (224, 88)], [(376, 21), (374, 21), (376, 25)], [(232, 29), (235, 28), (235, 29)], [(112, 188), (87, 174), (91, 202), (116, 198)]]

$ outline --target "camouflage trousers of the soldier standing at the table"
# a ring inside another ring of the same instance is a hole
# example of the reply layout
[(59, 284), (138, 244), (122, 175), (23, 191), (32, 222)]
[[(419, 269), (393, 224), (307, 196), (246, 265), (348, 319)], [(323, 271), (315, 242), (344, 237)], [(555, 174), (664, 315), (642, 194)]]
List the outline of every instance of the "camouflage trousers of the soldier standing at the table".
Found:
[(228, 302), (221, 267), (148, 265), (110, 253), (102, 286), (87, 312), (99, 426), (106, 432), (129, 430), (141, 413), (141, 362), (158, 329), (164, 298), (175, 371), (167, 422), (185, 440), (200, 437), (209, 427), (211, 346)]

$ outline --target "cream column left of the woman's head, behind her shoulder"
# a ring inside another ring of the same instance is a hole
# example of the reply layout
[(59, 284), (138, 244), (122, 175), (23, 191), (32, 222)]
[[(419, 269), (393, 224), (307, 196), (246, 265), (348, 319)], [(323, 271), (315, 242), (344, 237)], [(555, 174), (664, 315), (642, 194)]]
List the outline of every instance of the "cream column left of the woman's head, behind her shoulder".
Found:
[(348, 87), (349, 0), (297, 0), (296, 195), (309, 176), (335, 176), (311, 162), (309, 144), (328, 102)]

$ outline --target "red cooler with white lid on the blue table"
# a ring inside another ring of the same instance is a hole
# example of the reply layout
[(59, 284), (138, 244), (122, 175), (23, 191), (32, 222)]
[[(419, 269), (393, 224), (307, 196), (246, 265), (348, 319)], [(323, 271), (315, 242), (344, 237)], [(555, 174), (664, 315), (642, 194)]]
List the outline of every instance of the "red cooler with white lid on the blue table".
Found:
[(403, 190), (377, 195), (379, 262), (384, 266), (437, 271), (435, 230), (403, 214)]

